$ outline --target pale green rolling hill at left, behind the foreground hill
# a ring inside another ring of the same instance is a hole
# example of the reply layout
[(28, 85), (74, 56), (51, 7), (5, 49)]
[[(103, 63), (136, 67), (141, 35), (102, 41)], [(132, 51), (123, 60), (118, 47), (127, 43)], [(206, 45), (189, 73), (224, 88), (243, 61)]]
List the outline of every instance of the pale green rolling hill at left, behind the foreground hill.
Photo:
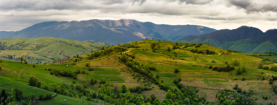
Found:
[(19, 57), (24, 56), (28, 63), (44, 64), (68, 56), (86, 54), (108, 46), (106, 43), (79, 42), (50, 37), (6, 38), (0, 39), (0, 56), (15, 61), (19, 61)]

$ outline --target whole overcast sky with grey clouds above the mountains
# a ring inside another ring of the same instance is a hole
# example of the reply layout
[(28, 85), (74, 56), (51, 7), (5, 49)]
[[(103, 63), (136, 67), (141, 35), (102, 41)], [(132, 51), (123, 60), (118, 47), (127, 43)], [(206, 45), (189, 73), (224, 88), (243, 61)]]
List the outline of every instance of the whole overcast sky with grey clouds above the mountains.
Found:
[(135, 19), (171, 25), (266, 31), (277, 28), (277, 0), (1, 0), (0, 31), (45, 21)]

